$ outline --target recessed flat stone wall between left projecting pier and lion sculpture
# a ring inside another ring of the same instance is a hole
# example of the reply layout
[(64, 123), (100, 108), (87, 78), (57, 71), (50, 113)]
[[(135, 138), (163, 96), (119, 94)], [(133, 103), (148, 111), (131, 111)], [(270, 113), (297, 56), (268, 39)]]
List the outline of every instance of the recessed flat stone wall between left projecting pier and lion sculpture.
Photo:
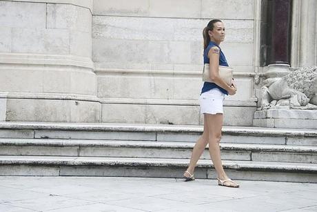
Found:
[(202, 31), (217, 18), (225, 23), (221, 47), (238, 84), (225, 101), (225, 124), (252, 125), (256, 3), (94, 0), (92, 59), (102, 122), (202, 124)]

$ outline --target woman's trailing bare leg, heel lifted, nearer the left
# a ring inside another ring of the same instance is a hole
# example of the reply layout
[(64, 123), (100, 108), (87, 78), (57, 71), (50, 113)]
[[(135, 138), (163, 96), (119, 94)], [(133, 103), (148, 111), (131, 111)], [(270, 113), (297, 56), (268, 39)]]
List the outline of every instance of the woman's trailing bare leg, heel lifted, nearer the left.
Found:
[[(203, 154), (203, 152), (205, 151), (205, 148), (208, 144), (208, 126), (207, 126), (207, 122), (204, 121), (204, 126), (203, 126), (203, 135), (201, 135), (201, 137), (198, 138), (194, 149), (192, 151), (192, 157), (190, 157), (190, 165), (187, 168), (187, 171), (189, 171), (191, 174), (194, 173), (194, 169), (195, 166), (199, 160), (199, 158), (201, 158), (201, 155)], [(185, 177), (190, 177), (190, 175), (188, 173), (184, 173)]]

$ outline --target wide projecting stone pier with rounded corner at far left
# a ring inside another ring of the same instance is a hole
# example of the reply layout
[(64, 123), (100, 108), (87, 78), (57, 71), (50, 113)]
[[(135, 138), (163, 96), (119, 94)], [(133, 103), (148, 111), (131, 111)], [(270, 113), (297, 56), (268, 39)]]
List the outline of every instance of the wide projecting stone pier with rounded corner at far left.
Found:
[(91, 10), (92, 0), (0, 1), (6, 121), (99, 122)]

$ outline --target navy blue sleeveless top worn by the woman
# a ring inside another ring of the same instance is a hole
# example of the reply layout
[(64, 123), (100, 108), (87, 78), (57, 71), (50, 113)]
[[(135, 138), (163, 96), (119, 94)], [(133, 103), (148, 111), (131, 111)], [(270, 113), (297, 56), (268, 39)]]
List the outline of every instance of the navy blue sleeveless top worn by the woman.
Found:
[[(223, 51), (214, 41), (210, 41), (207, 48), (203, 52), (203, 63), (209, 64), (208, 52), (210, 48), (212, 48), (213, 46), (217, 46), (220, 49), (219, 66), (229, 66), (227, 63), (227, 59), (225, 59), (225, 55), (223, 54)], [(203, 88), (201, 89), (201, 94), (207, 92), (208, 90), (212, 90), (212, 88), (218, 88), (219, 90), (221, 90), (222, 93), (224, 93), (225, 95), (228, 95), (227, 90), (221, 88), (221, 86), (218, 86), (217, 84), (214, 84), (208, 81), (204, 82)]]

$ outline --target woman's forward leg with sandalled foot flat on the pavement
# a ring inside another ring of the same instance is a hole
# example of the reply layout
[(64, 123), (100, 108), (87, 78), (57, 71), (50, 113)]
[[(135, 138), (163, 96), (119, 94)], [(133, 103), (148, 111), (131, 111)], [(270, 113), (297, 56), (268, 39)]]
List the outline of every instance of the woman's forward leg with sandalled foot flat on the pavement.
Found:
[[(221, 162), (221, 151), (219, 143), (221, 141), (221, 129), (223, 128), (223, 114), (217, 113), (215, 115), (205, 114), (204, 115), (205, 122), (207, 122), (207, 126), (209, 127), (209, 154), (212, 157), (212, 163), (214, 164), (214, 168), (218, 174), (218, 178), (221, 180), (227, 180), (229, 177), (226, 175), (223, 170), (223, 164)], [(236, 186), (237, 184), (234, 182), (227, 181), (225, 182), (227, 186)]]

